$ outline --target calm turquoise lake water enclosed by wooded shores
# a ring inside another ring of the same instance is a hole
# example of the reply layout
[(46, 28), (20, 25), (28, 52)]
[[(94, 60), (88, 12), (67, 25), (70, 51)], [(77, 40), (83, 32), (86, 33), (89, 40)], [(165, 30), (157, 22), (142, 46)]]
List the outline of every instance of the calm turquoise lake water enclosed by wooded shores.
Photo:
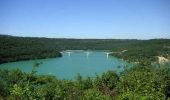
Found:
[[(31, 72), (35, 62), (42, 62), (37, 68), (38, 74), (54, 75), (60, 79), (74, 79), (80, 75), (93, 77), (108, 70), (121, 71), (126, 64), (123, 60), (107, 56), (101, 51), (71, 51), (62, 52), (61, 58), (48, 58), (41, 60), (18, 61), (1, 64), (1, 69), (20, 69)], [(119, 66), (119, 67), (118, 67)]]

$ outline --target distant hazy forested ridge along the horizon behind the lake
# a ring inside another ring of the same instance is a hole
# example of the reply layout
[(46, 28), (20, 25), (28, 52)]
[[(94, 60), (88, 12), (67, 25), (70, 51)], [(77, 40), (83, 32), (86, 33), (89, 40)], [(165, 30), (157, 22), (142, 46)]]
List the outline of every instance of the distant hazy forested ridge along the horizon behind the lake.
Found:
[[(35, 38), (35, 37), (14, 37), (7, 35), (0, 35), (3, 40), (10, 40), (17, 42), (34, 42), (36, 44), (43, 44), (48, 48), (55, 48), (58, 50), (81, 49), (81, 50), (111, 50), (122, 46), (136, 44), (142, 42), (141, 40), (121, 40), (121, 39), (67, 39), (67, 38)], [(9, 42), (10, 42), (9, 41)], [(19, 45), (19, 44), (18, 44)]]

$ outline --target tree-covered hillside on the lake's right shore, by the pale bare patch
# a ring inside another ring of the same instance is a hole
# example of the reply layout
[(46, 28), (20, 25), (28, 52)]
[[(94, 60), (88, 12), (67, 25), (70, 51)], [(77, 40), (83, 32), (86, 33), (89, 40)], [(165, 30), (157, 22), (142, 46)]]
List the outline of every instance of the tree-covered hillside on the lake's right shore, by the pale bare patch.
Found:
[(170, 59), (170, 40), (152, 39), (140, 43), (120, 47), (117, 52), (111, 53), (112, 56), (122, 58), (128, 62), (140, 62), (147, 60), (150, 62), (158, 61), (158, 56)]

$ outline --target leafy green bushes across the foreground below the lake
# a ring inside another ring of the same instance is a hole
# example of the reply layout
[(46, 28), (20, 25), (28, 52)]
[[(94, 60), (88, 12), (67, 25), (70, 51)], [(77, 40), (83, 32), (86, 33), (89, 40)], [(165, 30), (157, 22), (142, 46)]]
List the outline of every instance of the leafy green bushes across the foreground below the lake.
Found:
[(122, 73), (61, 80), (32, 72), (0, 70), (0, 98), (9, 100), (164, 100), (170, 91), (170, 64), (140, 63)]

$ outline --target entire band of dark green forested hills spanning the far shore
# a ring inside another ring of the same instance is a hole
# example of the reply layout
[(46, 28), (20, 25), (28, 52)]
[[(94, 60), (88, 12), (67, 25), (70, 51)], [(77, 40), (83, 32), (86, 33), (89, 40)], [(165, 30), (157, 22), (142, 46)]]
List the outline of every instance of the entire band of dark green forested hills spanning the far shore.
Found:
[[(0, 35), (0, 63), (61, 56), (61, 50), (111, 50), (121, 58), (170, 54), (170, 39), (58, 39)], [(146, 57), (146, 58), (147, 58)]]

